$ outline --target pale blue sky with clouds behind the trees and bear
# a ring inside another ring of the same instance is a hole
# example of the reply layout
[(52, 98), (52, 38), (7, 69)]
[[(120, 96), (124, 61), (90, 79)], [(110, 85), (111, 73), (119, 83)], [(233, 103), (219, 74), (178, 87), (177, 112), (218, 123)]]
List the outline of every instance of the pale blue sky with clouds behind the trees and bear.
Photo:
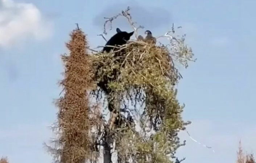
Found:
[[(183, 163), (235, 163), (240, 139), (256, 154), (255, 0), (0, 0), (0, 155), (10, 163), (51, 162), (43, 143), (53, 137), (65, 42), (79, 23), (92, 48), (104, 45), (97, 36), (104, 17), (127, 6), (153, 35), (182, 26), (197, 58), (179, 66), (178, 99), (192, 121), (187, 131), (215, 152), (181, 132)], [(124, 20), (116, 27), (132, 32)]]

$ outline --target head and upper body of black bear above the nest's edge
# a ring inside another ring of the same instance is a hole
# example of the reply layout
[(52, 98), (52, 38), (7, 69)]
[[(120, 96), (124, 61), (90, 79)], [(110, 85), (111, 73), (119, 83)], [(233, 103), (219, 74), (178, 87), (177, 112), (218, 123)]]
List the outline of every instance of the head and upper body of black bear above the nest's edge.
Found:
[(110, 40), (106, 43), (105, 47), (103, 48), (103, 52), (106, 51), (107, 53), (110, 52), (111, 49), (114, 49), (114, 47), (108, 47), (107, 45), (110, 46), (118, 46), (118, 45), (124, 45), (130, 37), (133, 35), (133, 32), (127, 33), (127, 32), (122, 32), (119, 28), (116, 28), (116, 34), (113, 35)]

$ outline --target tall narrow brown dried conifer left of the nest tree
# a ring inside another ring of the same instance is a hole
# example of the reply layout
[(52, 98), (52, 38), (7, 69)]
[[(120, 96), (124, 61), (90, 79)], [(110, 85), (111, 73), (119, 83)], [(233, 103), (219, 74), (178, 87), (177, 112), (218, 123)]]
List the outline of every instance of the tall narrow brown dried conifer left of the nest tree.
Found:
[(52, 149), (52, 154), (56, 162), (83, 163), (92, 155), (91, 129), (95, 119), (90, 115), (87, 91), (94, 82), (86, 36), (80, 29), (73, 30), (70, 36), (66, 43), (70, 55), (62, 55), (65, 73), (60, 84), (65, 95), (57, 101), (59, 149)]

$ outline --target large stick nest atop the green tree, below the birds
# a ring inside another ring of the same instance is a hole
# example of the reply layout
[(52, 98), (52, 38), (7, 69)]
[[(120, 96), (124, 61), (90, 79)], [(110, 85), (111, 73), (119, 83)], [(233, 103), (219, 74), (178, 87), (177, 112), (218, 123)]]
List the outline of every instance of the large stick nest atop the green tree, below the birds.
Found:
[(175, 85), (180, 78), (168, 49), (144, 42), (129, 42), (112, 53), (95, 54), (93, 65), (96, 80), (107, 77), (113, 91), (156, 87), (166, 82)]

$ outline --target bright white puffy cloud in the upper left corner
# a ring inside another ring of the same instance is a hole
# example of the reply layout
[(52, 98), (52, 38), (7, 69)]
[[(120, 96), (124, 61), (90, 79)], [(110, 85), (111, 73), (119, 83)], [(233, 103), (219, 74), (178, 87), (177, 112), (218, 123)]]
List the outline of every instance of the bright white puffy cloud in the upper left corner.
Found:
[(35, 5), (0, 0), (0, 46), (10, 46), (28, 37), (47, 38), (51, 26)]

